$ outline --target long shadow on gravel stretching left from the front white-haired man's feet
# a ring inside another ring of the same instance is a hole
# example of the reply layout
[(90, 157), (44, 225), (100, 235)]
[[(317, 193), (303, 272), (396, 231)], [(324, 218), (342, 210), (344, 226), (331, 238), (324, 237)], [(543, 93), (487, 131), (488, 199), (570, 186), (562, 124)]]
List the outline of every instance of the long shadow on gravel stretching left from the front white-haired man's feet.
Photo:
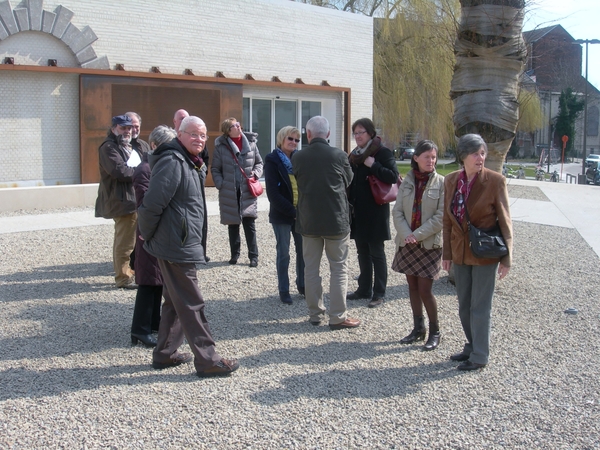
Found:
[[(140, 372), (147, 372), (140, 375)], [(135, 376), (131, 376), (135, 374)], [(197, 382), (190, 373), (168, 373), (148, 365), (106, 368), (30, 370), (11, 368), (0, 372), (8, 389), (0, 390), (0, 401), (21, 398), (54, 397), (63, 393), (98, 389), (101, 386), (137, 386), (151, 383)]]

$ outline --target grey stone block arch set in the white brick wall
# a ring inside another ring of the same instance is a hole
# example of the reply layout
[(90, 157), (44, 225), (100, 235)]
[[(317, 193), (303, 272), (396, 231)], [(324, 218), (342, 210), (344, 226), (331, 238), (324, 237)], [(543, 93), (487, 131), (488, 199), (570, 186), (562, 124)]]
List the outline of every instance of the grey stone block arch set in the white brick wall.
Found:
[(62, 41), (80, 67), (110, 69), (108, 58), (98, 57), (92, 47), (98, 37), (89, 26), (80, 30), (71, 23), (73, 11), (62, 5), (54, 12), (46, 11), (43, 4), (44, 0), (29, 0), (24, 7), (12, 9), (9, 0), (0, 1), (0, 41), (21, 31), (41, 31)]

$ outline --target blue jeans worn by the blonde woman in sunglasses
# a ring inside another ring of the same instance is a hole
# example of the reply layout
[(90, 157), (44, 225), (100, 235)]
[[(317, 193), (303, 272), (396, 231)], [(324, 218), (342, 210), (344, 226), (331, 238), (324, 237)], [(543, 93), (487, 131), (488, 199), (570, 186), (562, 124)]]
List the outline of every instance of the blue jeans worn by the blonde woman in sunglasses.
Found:
[(293, 225), (272, 223), (277, 249), (277, 285), (279, 292), (290, 291), (290, 235), (296, 247), (296, 287), (304, 287), (304, 258), (302, 256), (302, 236), (294, 231)]

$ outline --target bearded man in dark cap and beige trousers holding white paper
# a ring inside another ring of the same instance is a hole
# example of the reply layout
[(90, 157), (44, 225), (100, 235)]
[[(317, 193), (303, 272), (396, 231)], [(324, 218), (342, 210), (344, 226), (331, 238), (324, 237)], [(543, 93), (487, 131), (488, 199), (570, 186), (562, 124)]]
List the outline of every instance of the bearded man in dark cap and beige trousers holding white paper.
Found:
[(137, 224), (133, 172), (142, 161), (141, 151), (131, 146), (133, 122), (127, 115), (112, 118), (106, 139), (98, 149), (100, 185), (96, 217), (113, 219), (113, 267), (118, 288), (135, 289), (129, 256), (135, 247)]

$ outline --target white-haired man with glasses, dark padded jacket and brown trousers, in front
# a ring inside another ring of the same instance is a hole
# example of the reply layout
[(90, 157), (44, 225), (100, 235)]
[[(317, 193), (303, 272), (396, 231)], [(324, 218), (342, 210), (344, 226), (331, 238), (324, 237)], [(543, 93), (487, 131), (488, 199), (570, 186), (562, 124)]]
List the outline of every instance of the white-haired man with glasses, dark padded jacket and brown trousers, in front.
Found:
[(166, 369), (190, 362), (192, 355), (179, 352), (185, 337), (200, 377), (228, 375), (239, 367), (237, 361), (217, 354), (198, 287), (196, 265), (204, 263), (206, 214), (200, 180), (204, 162), (199, 155), (207, 139), (200, 118), (182, 121), (177, 138), (149, 156), (150, 186), (138, 209), (144, 248), (158, 259), (163, 275), (165, 302), (152, 366)]

